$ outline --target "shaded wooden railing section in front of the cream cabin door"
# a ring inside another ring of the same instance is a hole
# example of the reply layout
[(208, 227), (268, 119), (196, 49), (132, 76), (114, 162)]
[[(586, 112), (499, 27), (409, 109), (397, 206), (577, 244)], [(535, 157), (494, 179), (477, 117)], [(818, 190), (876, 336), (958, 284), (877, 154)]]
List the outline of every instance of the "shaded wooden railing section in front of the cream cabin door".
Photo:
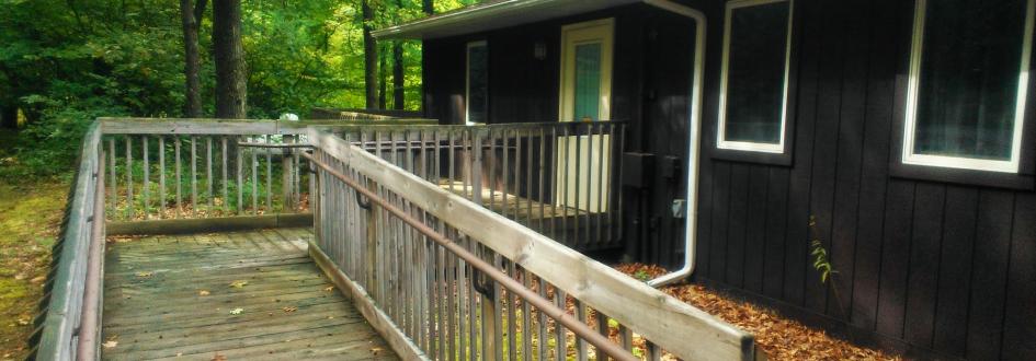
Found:
[(625, 124), (343, 126), (368, 152), (562, 244), (621, 246)]

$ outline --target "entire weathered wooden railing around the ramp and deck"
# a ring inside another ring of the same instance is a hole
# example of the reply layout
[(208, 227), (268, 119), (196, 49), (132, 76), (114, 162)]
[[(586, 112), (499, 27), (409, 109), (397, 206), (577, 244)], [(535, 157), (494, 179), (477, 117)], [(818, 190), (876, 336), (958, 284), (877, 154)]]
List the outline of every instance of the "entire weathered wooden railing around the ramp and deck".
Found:
[(622, 132), (618, 123), (100, 119), (83, 140), (33, 356), (95, 356), (102, 220), (297, 211), (316, 190), (311, 254), (401, 354), (752, 358), (751, 335), (551, 240), (590, 247), (621, 233)]

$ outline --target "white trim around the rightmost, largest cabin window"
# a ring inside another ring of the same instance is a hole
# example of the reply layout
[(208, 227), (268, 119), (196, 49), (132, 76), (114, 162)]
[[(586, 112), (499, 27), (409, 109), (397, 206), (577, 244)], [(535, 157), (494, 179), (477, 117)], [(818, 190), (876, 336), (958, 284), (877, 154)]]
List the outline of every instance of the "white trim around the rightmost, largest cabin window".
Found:
[(965, 156), (915, 154), (918, 88), (921, 81), (921, 57), (924, 46), (924, 18), (926, 0), (917, 0), (914, 5), (913, 38), (910, 50), (910, 75), (907, 85), (907, 121), (903, 127), (903, 163), (987, 172), (1017, 173), (1022, 158), (1022, 126), (1025, 120), (1025, 101), (1028, 90), (1028, 68), (1033, 44), (1033, 10), (1036, 0), (1028, 0), (1025, 8), (1025, 27), (1022, 39), (1022, 65), (1018, 71), (1018, 90), (1014, 107), (1014, 137), (1011, 158), (1007, 161), (982, 160)]

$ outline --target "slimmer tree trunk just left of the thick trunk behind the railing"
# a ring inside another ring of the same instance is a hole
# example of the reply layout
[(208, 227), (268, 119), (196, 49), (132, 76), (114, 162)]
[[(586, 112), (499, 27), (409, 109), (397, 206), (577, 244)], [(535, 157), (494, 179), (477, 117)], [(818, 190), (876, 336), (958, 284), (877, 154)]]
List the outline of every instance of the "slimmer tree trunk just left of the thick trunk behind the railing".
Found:
[(186, 78), (184, 82), (184, 103), (183, 114), (187, 118), (200, 118), (202, 116), (202, 96), (201, 82), (198, 81), (198, 60), (197, 33), (201, 16), (198, 9), (204, 11), (205, 0), (198, 0), (197, 8), (192, 7), (192, 0), (180, 0), (180, 18), (183, 23), (183, 53), (184, 67), (183, 74)]

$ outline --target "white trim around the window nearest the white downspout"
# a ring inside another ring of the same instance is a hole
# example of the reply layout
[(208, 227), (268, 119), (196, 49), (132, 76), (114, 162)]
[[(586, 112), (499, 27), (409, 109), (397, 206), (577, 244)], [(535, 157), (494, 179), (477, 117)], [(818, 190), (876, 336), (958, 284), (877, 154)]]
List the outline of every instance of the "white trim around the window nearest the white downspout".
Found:
[[(728, 141), (726, 140), (727, 126), (727, 75), (728, 60), (730, 58), (730, 31), (733, 11), (741, 8), (749, 8), (775, 2), (788, 2), (788, 28), (784, 49), (784, 89), (781, 102), (781, 138), (777, 143), (761, 143), (748, 141)], [(790, 73), (792, 62), (792, 26), (795, 20), (794, 0), (737, 0), (727, 2), (727, 11), (724, 15), (724, 54), (722, 70), (719, 84), (719, 119), (718, 131), (716, 131), (716, 147), (719, 149), (730, 149), (739, 151), (764, 152), (764, 153), (784, 153), (784, 144), (787, 139), (788, 123), (788, 74)]]

